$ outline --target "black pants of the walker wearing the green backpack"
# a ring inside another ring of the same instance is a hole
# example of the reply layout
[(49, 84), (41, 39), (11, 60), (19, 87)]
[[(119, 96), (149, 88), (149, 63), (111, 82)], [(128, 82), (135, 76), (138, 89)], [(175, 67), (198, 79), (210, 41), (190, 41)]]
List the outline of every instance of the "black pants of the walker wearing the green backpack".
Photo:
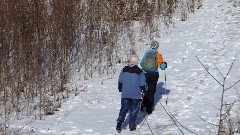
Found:
[(148, 85), (148, 90), (143, 97), (143, 105), (146, 106), (148, 113), (152, 113), (154, 107), (154, 95), (156, 92), (159, 73), (146, 73), (145, 77)]

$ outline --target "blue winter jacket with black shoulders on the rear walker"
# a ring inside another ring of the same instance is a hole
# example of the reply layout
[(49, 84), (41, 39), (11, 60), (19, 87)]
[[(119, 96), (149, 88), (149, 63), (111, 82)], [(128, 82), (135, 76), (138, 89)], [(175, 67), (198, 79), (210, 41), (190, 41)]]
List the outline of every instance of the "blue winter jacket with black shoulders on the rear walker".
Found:
[(118, 79), (122, 98), (141, 99), (141, 90), (147, 90), (146, 78), (138, 66), (125, 66)]

